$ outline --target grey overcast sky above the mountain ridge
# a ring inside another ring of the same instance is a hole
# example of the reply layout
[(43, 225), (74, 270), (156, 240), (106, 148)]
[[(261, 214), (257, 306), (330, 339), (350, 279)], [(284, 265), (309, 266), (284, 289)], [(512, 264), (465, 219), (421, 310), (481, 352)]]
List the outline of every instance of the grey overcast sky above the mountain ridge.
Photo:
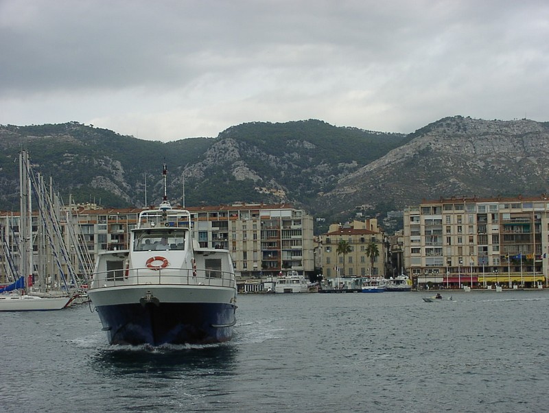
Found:
[(0, 0), (0, 124), (549, 121), (549, 1)]

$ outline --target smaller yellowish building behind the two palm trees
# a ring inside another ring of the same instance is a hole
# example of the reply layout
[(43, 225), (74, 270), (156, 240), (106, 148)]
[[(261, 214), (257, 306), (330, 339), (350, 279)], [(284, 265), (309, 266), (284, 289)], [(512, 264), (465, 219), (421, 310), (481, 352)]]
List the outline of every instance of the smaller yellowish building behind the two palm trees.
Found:
[[(318, 237), (316, 254), (321, 263), (325, 279), (340, 276), (385, 276), (388, 250), (384, 232), (377, 226), (377, 220), (353, 221), (348, 224), (331, 224), (327, 233)], [(344, 240), (351, 246), (351, 252), (343, 257), (338, 254), (338, 242)], [(370, 257), (366, 255), (368, 244), (377, 245), (379, 255), (371, 268)]]

